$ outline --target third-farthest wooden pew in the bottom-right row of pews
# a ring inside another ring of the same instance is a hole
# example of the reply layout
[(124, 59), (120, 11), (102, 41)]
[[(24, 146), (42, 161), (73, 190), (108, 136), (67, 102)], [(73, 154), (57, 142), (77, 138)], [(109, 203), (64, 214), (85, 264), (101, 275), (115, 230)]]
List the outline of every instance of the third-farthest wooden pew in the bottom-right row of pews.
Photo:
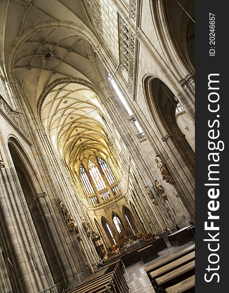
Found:
[(172, 272), (166, 273), (163, 276), (156, 278), (158, 290), (156, 292), (164, 293), (165, 289), (191, 277), (195, 273), (195, 261), (192, 260), (184, 266), (173, 270)]

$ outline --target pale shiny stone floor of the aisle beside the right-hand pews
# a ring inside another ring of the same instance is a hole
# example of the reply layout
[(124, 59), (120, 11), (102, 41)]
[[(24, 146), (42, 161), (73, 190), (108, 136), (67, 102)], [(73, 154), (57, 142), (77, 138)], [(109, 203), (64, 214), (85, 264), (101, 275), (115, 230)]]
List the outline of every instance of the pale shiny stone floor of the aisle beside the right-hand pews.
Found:
[(148, 263), (138, 262), (130, 267), (126, 268), (126, 272), (124, 277), (127, 281), (127, 284), (130, 288), (130, 293), (155, 293), (153, 286), (145, 272), (145, 268), (149, 267), (150, 265), (158, 262), (159, 260), (170, 256), (171, 254), (181, 251), (191, 245), (193, 242), (190, 241), (181, 246), (171, 246), (169, 242), (166, 241), (168, 248), (164, 249), (163, 251), (158, 252), (159, 257), (149, 261)]

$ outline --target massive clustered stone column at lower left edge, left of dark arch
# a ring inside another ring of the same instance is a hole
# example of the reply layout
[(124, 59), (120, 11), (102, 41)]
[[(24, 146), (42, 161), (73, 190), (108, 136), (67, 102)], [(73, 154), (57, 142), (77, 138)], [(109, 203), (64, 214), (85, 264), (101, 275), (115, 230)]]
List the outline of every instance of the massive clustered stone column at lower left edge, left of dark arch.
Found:
[[(8, 150), (0, 135), (0, 207), (3, 222), (9, 235), (15, 264), (25, 292), (57, 292), (44, 252), (31, 218), (17, 173)], [(10, 248), (7, 248), (10, 249)], [(33, 255), (32, 255), (32, 252)]]

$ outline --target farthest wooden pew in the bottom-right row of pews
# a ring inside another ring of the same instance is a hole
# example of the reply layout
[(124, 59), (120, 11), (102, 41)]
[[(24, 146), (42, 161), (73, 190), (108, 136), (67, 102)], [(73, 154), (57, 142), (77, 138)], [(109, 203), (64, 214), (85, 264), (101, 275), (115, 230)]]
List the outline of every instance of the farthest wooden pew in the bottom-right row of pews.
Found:
[(153, 272), (154, 270), (157, 270), (169, 263), (171, 263), (172, 261), (189, 254), (191, 251), (195, 250), (195, 244), (191, 245), (190, 247), (187, 247), (186, 249), (183, 249), (182, 251), (176, 252), (174, 254), (172, 254), (171, 256), (168, 256), (160, 261), (158, 261), (157, 263), (149, 266), (148, 268), (145, 269), (148, 277), (150, 278), (150, 272)]

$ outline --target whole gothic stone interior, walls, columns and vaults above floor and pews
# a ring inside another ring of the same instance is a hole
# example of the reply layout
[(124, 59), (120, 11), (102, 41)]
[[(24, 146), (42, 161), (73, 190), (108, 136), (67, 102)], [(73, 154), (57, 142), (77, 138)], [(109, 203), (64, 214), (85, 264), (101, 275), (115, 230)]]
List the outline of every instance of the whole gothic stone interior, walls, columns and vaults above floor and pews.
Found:
[(0, 293), (194, 222), (194, 41), (193, 0), (0, 0)]

